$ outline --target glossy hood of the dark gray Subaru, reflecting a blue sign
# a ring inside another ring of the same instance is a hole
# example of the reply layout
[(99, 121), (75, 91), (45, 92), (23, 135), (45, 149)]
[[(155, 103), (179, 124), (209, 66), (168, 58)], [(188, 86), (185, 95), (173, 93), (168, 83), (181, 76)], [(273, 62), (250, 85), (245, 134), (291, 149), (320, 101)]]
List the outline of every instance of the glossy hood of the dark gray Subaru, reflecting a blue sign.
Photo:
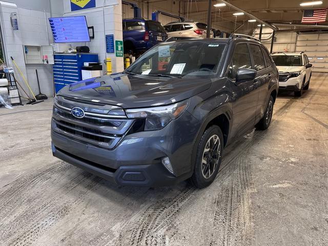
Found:
[(59, 96), (123, 108), (160, 106), (209, 89), (209, 78), (165, 78), (116, 73), (65, 86)]

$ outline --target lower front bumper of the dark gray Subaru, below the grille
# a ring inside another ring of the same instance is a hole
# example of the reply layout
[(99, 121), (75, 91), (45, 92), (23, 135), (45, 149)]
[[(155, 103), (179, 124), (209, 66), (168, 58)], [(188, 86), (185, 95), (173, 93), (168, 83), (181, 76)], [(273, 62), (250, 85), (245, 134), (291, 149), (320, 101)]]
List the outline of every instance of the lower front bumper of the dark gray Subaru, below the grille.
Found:
[[(157, 131), (127, 135), (106, 149), (51, 131), (53, 156), (121, 185), (166, 186), (192, 175), (192, 149), (199, 122), (185, 111)], [(169, 157), (174, 175), (162, 164)]]

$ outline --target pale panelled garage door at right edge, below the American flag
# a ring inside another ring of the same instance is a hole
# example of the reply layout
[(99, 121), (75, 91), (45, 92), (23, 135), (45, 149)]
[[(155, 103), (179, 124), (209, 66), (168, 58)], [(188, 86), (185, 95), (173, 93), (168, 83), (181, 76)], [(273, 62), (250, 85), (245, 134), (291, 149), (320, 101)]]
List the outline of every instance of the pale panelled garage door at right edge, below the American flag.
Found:
[(296, 51), (304, 51), (313, 64), (313, 71), (328, 72), (328, 33), (299, 34)]

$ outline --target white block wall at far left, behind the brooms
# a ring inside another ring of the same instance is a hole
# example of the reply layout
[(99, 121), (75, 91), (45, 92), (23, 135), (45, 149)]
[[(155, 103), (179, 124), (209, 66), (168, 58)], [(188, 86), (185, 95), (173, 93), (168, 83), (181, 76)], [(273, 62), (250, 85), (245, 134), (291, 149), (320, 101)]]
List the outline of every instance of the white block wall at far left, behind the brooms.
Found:
[[(19, 1), (15, 1), (19, 2)], [(10, 13), (17, 12), (17, 21), (19, 30), (13, 30), (10, 23)], [(47, 17), (50, 13), (46, 13)], [(24, 61), (23, 45), (49, 45), (48, 37), (51, 39), (51, 34), (47, 33), (47, 20), (45, 12), (41, 10), (32, 10), (20, 8), (14, 3), (0, 2), (0, 22), (3, 35), (4, 53), (8, 66), (13, 66), (10, 56), (13, 56), (16, 64), (28, 80), (34, 94), (38, 94), (38, 87), (35, 75), (35, 69), (38, 70), (40, 87), (42, 92), (48, 96), (52, 96), (53, 77), (51, 65), (26, 65)], [(52, 40), (50, 40), (52, 42)], [(23, 78), (14, 67), (15, 77), (28, 91)], [(22, 96), (24, 93), (20, 90)], [(29, 97), (32, 94), (28, 91)]]

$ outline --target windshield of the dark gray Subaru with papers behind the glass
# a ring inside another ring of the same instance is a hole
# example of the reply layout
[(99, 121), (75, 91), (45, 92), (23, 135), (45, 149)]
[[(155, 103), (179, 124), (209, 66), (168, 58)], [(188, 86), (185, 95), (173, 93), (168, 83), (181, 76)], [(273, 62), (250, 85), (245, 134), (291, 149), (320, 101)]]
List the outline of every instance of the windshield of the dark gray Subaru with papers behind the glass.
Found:
[(217, 42), (169, 42), (141, 55), (127, 72), (149, 76), (215, 74), (226, 44)]

